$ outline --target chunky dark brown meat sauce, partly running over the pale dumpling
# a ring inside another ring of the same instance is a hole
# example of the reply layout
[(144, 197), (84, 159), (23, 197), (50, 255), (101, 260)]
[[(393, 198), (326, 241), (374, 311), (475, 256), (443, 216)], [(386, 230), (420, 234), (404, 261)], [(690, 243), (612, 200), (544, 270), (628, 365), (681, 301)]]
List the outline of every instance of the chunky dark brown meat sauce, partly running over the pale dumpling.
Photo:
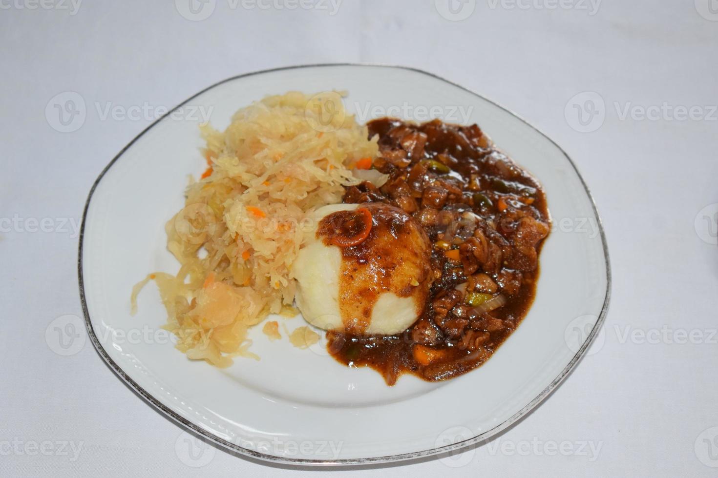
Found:
[[(342, 249), (340, 295), (348, 303), (354, 297), (363, 300), (342, 310), (348, 327), (345, 333), (327, 333), (327, 347), (340, 363), (373, 368), (388, 385), (403, 373), (426, 381), (459, 376), (488, 360), (531, 307), (538, 253), (550, 230), (546, 196), (538, 181), (496, 150), (477, 125), (439, 120), (414, 125), (383, 118), (371, 122), (369, 132), (379, 136), (373, 168), (389, 180), (381, 188), (368, 182), (347, 188), (345, 203), (363, 204), (378, 217), (396, 214), (383, 206), (401, 209), (420, 225), (432, 248), (426, 257), (412, 256), (411, 243), (401, 240), (398, 228), (396, 241)], [(391, 227), (382, 224), (377, 221), (373, 228)], [(391, 219), (387, 224), (393, 224)], [(336, 234), (337, 224), (327, 227), (335, 232), (323, 234)], [(409, 292), (386, 281), (391, 264), (382, 251), (388, 247), (403, 247), (405, 257), (423, 261), (432, 286), (421, 297), (421, 316), (409, 330), (365, 336), (376, 294)], [(476, 306), (487, 297), (494, 300)], [(503, 306), (482, 309), (497, 300)]]

